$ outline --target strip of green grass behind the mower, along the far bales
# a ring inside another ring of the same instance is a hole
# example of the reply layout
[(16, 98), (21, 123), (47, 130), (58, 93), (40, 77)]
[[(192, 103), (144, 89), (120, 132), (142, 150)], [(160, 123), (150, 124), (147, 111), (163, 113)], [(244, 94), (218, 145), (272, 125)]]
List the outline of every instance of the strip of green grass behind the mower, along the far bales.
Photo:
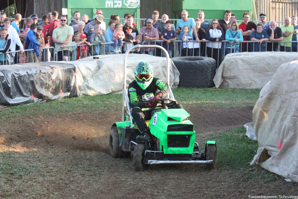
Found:
[[(176, 88), (173, 89), (176, 100), (183, 106), (253, 106), (258, 98), (258, 89), (210, 89), (210, 88)], [(0, 117), (59, 114), (61, 112), (86, 111), (98, 109), (121, 108), (122, 94), (100, 96), (82, 96), (49, 101), (46, 103), (22, 104), (0, 109)]]

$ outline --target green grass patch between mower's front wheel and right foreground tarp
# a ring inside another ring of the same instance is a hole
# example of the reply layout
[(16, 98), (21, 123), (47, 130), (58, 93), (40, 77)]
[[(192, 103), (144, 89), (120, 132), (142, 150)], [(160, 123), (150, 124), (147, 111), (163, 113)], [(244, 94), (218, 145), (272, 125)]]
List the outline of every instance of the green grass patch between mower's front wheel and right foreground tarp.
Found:
[(250, 166), (257, 153), (258, 142), (248, 138), (245, 133), (244, 127), (238, 127), (212, 138), (217, 146), (217, 167), (226, 171), (241, 171), (247, 180), (257, 178), (265, 183), (276, 182), (278, 180), (276, 174), (256, 164)]

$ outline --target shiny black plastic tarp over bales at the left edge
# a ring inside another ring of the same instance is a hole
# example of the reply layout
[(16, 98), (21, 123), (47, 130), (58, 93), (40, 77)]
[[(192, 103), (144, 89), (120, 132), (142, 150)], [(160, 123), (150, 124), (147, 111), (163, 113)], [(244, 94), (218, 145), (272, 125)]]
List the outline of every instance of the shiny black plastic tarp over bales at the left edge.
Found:
[(77, 95), (75, 65), (70, 62), (4, 65), (0, 82), (0, 106)]

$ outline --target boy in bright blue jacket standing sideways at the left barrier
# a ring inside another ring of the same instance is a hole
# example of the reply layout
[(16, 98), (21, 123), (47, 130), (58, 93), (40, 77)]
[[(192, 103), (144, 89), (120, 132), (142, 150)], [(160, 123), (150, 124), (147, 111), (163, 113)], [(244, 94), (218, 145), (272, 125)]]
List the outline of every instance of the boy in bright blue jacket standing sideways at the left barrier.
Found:
[(39, 56), (39, 51), (41, 51), (41, 45), (36, 39), (36, 24), (30, 25), (30, 30), (25, 38), (25, 50), (34, 49), (28, 51), (28, 62), (38, 62), (37, 56)]

